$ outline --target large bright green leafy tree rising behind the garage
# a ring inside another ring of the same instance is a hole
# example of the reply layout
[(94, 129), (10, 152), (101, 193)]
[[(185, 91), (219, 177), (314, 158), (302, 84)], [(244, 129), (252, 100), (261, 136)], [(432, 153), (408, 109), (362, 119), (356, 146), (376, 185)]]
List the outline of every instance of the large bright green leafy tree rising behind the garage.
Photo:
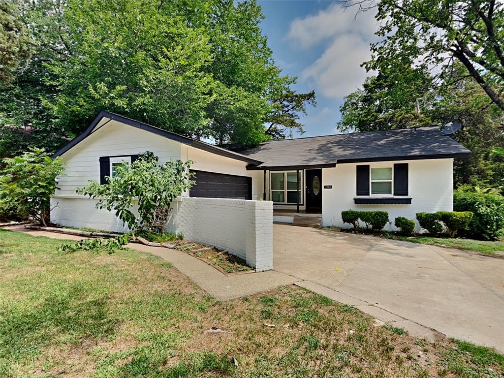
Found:
[(2, 138), (4, 155), (20, 132), (56, 148), (101, 109), (255, 145), (302, 132), (299, 114), (314, 105), (314, 94), (293, 92), (295, 78), (275, 65), (255, 1), (40, 0), (19, 17), (37, 59), (0, 104), (0, 120), (13, 131)]

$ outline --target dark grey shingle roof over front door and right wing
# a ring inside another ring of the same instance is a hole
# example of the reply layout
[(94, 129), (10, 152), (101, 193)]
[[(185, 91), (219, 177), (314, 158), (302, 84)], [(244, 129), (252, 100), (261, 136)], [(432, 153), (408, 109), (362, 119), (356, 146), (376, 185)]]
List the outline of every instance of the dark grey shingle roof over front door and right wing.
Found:
[(264, 167), (464, 157), (470, 151), (437, 126), (265, 142), (239, 151)]

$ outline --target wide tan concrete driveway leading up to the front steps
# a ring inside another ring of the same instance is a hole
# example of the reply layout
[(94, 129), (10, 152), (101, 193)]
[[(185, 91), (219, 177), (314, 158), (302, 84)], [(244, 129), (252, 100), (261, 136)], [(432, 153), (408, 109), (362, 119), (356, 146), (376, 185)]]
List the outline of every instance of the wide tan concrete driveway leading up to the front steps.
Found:
[(504, 259), (275, 224), (274, 269), (415, 336), (504, 352)]

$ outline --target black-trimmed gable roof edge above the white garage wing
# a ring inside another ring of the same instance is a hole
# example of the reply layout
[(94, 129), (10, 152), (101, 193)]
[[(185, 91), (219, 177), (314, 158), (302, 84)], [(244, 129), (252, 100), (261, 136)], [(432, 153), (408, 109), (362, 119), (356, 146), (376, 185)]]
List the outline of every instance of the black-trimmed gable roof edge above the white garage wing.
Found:
[[(104, 122), (102, 122), (102, 120), (104, 120)], [(101, 127), (103, 127), (105, 124), (107, 124), (111, 120), (115, 120), (115, 121), (118, 121), (118, 122), (121, 122), (124, 124), (128, 124), (134, 128), (145, 130), (150, 133), (154, 133), (156, 135), (159, 135), (160, 137), (171, 139), (173, 141), (185, 144), (187, 146), (191, 146), (191, 147), (203, 150), (203, 151), (211, 152), (216, 155), (225, 156), (225, 157), (228, 157), (231, 159), (244, 161), (246, 163), (254, 164), (254, 165), (261, 163), (261, 161), (256, 160), (250, 156), (242, 155), (242, 154), (234, 152), (234, 151), (229, 151), (224, 148), (214, 146), (213, 144), (198, 141), (193, 138), (184, 137), (183, 135), (172, 133), (167, 130), (152, 126), (148, 123), (140, 122), (135, 119), (124, 117), (119, 114), (114, 114), (114, 113), (111, 113), (106, 110), (100, 111), (100, 113), (98, 113), (96, 118), (93, 120), (93, 122), (91, 122), (91, 124), (89, 125), (89, 127), (86, 129), (86, 131), (84, 133), (82, 133), (78, 137), (71, 140), (68, 144), (66, 144), (65, 146), (60, 148), (58, 151), (56, 151), (52, 155), (52, 157), (54, 158), (56, 156), (60, 156), (60, 155), (64, 154), (65, 152), (67, 152), (68, 150), (70, 150), (71, 148), (73, 148), (74, 146), (79, 144), (81, 141), (83, 141), (84, 139), (89, 137), (91, 134), (93, 134), (93, 132), (100, 129)]]

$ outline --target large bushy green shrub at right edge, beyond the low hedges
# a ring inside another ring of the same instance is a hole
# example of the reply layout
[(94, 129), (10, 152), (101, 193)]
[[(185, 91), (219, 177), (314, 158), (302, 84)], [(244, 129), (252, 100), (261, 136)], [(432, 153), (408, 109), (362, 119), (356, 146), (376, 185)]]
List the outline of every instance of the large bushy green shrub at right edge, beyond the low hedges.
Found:
[(498, 193), (460, 188), (453, 194), (453, 208), (473, 213), (468, 229), (462, 231), (464, 236), (495, 240), (504, 235), (504, 197)]

